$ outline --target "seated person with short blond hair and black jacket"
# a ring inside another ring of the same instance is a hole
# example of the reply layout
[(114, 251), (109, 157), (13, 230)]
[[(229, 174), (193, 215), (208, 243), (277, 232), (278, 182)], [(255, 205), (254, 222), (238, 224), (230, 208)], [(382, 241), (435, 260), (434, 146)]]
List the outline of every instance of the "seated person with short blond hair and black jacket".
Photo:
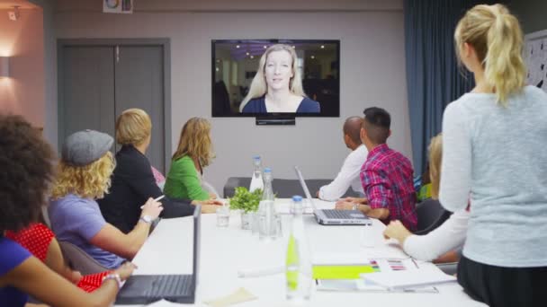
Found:
[[(150, 145), (152, 122), (144, 110), (124, 110), (116, 119), (116, 142), (121, 149), (116, 153), (116, 168), (112, 186), (97, 202), (106, 222), (121, 232), (129, 233), (139, 223), (140, 205), (148, 198), (157, 198), (163, 192), (157, 186), (150, 162), (145, 153)], [(161, 200), (162, 218), (193, 215), (193, 205), (186, 199), (165, 197)], [(216, 212), (217, 202), (199, 202), (202, 213)]]

